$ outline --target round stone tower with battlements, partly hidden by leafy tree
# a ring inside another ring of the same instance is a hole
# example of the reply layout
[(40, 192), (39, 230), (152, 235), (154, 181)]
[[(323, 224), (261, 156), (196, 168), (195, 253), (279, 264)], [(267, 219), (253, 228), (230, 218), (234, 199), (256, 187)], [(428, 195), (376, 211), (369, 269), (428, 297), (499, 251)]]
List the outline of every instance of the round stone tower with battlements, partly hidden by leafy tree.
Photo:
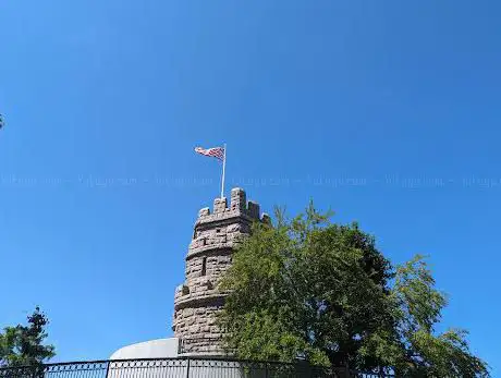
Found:
[(242, 188), (227, 198), (216, 198), (213, 211), (198, 212), (193, 240), (188, 247), (185, 281), (175, 289), (172, 329), (180, 339), (180, 352), (222, 355), (222, 334), (216, 315), (227, 293), (218, 289), (221, 275), (230, 267), (232, 253), (242, 237), (248, 235), (254, 221), (269, 221), (259, 215), (259, 205), (246, 202)]

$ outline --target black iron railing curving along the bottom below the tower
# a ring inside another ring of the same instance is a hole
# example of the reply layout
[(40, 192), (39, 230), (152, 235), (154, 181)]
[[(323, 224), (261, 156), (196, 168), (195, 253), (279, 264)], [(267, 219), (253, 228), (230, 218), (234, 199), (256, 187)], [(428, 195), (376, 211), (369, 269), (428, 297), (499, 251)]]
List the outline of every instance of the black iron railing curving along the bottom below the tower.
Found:
[(90, 361), (0, 368), (0, 378), (388, 378), (375, 373), (198, 357)]

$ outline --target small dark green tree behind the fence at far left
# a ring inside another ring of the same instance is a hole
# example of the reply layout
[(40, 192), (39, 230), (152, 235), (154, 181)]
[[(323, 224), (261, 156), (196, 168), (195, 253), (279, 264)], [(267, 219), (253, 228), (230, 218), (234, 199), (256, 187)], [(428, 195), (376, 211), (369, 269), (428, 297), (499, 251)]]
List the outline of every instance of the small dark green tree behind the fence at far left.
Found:
[(37, 306), (27, 316), (27, 325), (5, 327), (0, 333), (0, 366), (30, 366), (56, 355), (52, 345), (44, 344), (49, 319)]

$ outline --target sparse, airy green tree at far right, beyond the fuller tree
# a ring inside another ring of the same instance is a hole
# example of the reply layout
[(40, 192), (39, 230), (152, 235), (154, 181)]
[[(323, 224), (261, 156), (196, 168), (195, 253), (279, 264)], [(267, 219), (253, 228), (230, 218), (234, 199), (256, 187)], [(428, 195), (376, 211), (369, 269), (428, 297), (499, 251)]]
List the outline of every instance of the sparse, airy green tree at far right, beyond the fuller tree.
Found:
[(435, 279), (423, 256), (399, 266), (391, 290), (396, 339), (376, 333), (363, 354), (374, 354), (401, 376), (487, 377), (487, 364), (469, 351), (462, 329), (435, 332), (445, 295), (435, 289)]

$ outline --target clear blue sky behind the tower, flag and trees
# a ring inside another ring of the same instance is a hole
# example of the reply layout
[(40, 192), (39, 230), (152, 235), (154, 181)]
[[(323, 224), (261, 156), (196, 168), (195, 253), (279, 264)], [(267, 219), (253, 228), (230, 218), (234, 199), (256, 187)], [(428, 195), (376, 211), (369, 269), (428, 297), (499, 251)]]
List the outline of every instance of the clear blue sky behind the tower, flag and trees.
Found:
[(0, 0), (0, 326), (58, 361), (171, 334), (200, 207), (309, 198), (429, 254), (501, 374), (497, 1)]

